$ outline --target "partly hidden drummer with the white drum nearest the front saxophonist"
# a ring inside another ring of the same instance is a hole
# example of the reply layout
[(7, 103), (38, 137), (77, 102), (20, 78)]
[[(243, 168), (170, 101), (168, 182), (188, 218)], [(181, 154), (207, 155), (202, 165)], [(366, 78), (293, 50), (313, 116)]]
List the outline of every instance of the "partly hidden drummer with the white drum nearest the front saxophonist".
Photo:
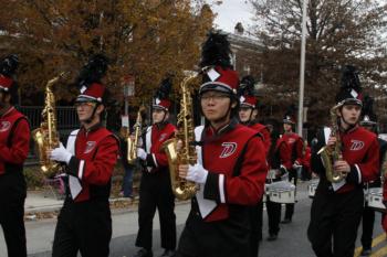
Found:
[[(268, 162), (270, 165), (270, 171), (275, 171), (274, 179), (268, 178), (266, 183), (281, 181), (282, 176), (292, 169), (291, 150), (284, 138), (279, 137), (279, 129), (276, 122), (270, 126), (272, 144), (268, 157)], [(268, 240), (275, 240), (280, 232), (280, 221), (281, 221), (281, 203), (275, 203), (266, 199), (266, 211), (268, 211), (268, 222), (269, 222), (269, 237)]]

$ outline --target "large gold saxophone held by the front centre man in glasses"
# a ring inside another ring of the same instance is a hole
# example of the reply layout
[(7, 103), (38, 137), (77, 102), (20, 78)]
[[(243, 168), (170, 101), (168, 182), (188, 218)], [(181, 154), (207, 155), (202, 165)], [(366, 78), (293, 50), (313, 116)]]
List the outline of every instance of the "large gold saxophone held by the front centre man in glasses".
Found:
[[(170, 182), (175, 196), (179, 200), (191, 199), (198, 191), (198, 185), (179, 176), (179, 164), (194, 165), (197, 160), (195, 142), (195, 127), (192, 120), (192, 97), (188, 88), (188, 83), (197, 77), (191, 74), (181, 82), (180, 113), (177, 115), (176, 137), (163, 143), (163, 149), (168, 157)], [(177, 142), (182, 142), (182, 147), (177, 151)]]

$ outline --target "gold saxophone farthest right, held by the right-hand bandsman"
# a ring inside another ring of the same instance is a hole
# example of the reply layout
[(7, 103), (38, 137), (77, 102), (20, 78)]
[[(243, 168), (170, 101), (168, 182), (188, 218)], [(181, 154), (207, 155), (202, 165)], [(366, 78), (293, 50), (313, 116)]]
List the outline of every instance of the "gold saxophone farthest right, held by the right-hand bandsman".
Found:
[(337, 114), (336, 110), (341, 105), (336, 105), (331, 108), (331, 136), (336, 137), (336, 143), (333, 147), (325, 146), (317, 152), (325, 167), (325, 175), (330, 182), (337, 183), (341, 182), (345, 176), (342, 172), (336, 172), (333, 168), (336, 161), (343, 160), (342, 152), (342, 140), (339, 137), (338, 125), (337, 125)]

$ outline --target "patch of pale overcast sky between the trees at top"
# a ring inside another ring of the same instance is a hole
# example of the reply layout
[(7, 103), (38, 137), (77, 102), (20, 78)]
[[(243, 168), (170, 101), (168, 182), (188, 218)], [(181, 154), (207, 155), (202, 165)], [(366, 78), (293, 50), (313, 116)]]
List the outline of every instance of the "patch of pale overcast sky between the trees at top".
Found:
[(208, 2), (212, 3), (212, 11), (218, 13), (215, 23), (221, 30), (233, 32), (237, 22), (242, 22), (244, 29), (253, 23), (252, 7), (248, 0), (222, 0), (220, 6), (213, 4), (219, 2), (216, 0)]

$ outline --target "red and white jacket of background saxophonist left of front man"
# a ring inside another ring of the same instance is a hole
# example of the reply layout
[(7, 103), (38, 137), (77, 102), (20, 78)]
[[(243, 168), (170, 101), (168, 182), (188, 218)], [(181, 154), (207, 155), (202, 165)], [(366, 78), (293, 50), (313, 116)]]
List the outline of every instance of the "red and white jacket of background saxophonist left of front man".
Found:
[(168, 158), (161, 147), (165, 141), (175, 137), (175, 132), (176, 127), (169, 122), (161, 128), (157, 125), (148, 127), (143, 141), (145, 142), (145, 151), (148, 153), (146, 167), (150, 173), (168, 167)]

